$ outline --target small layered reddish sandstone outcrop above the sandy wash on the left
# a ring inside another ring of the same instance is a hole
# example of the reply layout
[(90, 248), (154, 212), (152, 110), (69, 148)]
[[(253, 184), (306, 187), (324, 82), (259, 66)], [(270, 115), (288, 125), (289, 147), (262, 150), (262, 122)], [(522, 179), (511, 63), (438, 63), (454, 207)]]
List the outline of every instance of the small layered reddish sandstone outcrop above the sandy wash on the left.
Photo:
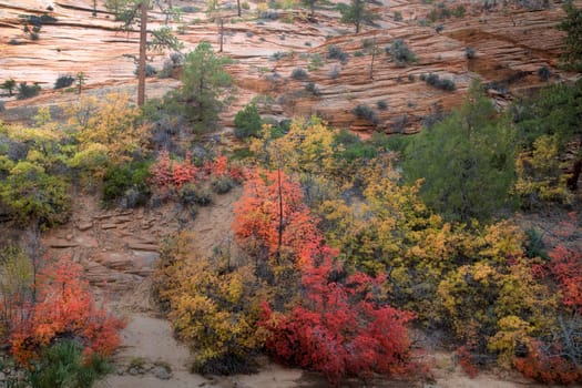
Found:
[[(99, 201), (79, 196), (73, 203), (73, 219), (49, 231), (42, 243), (52, 256), (70, 254), (85, 268), (85, 278), (105, 295), (134, 292), (152, 273), (160, 257), (159, 242), (177, 224), (169, 221), (169, 228), (144, 233), (140, 223), (159, 223), (171, 218), (164, 211), (101, 211)], [(127, 229), (139, 229), (132, 233)], [(63, 236), (71, 238), (67, 239)], [(144, 296), (147, 298), (147, 294)]]

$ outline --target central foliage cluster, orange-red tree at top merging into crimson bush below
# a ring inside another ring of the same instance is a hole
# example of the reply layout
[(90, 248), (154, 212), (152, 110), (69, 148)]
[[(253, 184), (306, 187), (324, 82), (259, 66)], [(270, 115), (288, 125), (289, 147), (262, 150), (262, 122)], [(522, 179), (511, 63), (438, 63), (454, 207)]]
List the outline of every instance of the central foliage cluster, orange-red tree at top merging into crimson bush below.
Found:
[(292, 259), (300, 272), (300, 303), (283, 312), (267, 302), (262, 306), (267, 350), (280, 363), (323, 372), (334, 385), (346, 376), (406, 374), (412, 365), (406, 325), (413, 314), (382, 303), (385, 276), (347, 275), (316, 225), (290, 176), (249, 174), (235, 208), (238, 241), (266, 252), (263, 259)]

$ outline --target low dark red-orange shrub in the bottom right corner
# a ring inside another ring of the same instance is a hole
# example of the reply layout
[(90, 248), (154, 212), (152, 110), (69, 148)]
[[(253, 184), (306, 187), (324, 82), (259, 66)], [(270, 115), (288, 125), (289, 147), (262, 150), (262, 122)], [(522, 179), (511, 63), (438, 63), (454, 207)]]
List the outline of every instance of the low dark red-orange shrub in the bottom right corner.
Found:
[[(553, 349), (558, 350), (558, 349)], [(515, 369), (525, 377), (542, 382), (573, 384), (582, 382), (582, 370), (574, 364), (559, 356), (549, 356), (539, 341), (532, 341), (528, 355), (517, 358)]]

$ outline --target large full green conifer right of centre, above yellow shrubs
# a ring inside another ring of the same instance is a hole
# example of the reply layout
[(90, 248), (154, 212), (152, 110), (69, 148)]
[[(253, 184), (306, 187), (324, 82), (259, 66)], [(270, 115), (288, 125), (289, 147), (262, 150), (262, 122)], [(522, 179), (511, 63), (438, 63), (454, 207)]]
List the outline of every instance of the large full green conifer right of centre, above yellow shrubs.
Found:
[(405, 174), (425, 178), (421, 197), (446, 218), (487, 219), (509, 202), (513, 153), (508, 125), (476, 83), (460, 110), (412, 140)]

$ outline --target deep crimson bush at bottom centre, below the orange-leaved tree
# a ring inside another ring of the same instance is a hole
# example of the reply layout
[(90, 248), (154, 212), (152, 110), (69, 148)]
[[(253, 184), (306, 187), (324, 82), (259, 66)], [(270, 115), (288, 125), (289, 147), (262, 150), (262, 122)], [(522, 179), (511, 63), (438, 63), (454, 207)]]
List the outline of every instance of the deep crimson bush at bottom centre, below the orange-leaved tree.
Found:
[(334, 280), (344, 270), (326, 252), (319, 264), (303, 267), (300, 306), (284, 315), (263, 305), (267, 349), (277, 360), (318, 370), (335, 385), (345, 376), (406, 372), (406, 324), (413, 314), (376, 302), (381, 278), (357, 273), (345, 283)]

